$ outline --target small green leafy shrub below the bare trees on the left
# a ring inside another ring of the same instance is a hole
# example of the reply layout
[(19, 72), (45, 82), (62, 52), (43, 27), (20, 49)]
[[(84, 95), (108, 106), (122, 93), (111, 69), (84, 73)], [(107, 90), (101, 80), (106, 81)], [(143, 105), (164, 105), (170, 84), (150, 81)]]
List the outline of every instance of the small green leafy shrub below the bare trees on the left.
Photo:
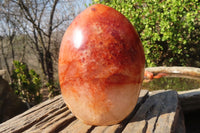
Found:
[(36, 105), (42, 101), (42, 95), (40, 94), (41, 79), (34, 70), (28, 70), (28, 66), (25, 63), (14, 61), (15, 69), (11, 76), (11, 87), (14, 92), (23, 101), (30, 106)]

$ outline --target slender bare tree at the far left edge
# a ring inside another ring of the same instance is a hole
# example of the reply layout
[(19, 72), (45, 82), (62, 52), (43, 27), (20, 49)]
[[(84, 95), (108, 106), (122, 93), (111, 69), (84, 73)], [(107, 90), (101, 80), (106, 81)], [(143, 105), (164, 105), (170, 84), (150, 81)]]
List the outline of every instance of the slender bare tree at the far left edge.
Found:
[[(12, 16), (9, 13), (12, 5), (10, 3), (3, 4), (1, 3), (1, 10), (0, 10), (0, 29), (1, 29), (1, 55), (5, 62), (5, 66), (7, 68), (9, 76), (13, 70), (13, 65), (9, 65), (9, 56), (11, 55), (11, 62), (15, 60), (15, 48), (14, 48), (14, 41), (16, 37), (16, 24), (12, 21)], [(11, 51), (11, 52), (8, 52)]]

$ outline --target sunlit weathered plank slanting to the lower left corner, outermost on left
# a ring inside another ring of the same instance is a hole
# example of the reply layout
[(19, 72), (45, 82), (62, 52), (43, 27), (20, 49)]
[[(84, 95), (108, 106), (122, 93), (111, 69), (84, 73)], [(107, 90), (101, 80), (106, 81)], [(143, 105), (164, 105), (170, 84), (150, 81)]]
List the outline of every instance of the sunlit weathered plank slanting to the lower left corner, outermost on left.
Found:
[(0, 124), (0, 132), (23, 132), (64, 106), (65, 104), (61, 96), (47, 100)]

